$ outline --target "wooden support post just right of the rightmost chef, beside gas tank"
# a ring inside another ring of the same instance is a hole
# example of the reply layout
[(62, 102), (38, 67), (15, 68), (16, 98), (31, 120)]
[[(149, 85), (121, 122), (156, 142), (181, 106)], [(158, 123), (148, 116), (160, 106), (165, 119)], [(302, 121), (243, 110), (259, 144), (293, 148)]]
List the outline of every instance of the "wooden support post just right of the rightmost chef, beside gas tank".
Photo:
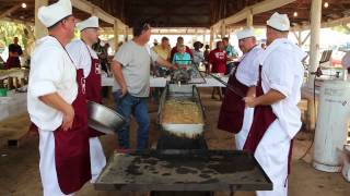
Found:
[[(322, 17), (322, 0), (312, 0), (311, 5), (311, 45), (310, 45), (310, 64), (308, 64), (308, 87), (314, 87), (315, 72), (319, 65), (319, 32)], [(308, 105), (307, 115), (310, 119), (308, 130), (315, 130), (316, 114), (313, 103)]]

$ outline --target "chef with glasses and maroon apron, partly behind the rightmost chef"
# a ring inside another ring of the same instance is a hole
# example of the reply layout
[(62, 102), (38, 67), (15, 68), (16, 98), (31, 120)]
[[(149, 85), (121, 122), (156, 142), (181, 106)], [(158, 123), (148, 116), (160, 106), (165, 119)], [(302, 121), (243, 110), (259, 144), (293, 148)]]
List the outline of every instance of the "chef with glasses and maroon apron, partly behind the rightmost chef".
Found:
[[(256, 44), (254, 29), (246, 27), (237, 33), (238, 46), (243, 57), (236, 62), (236, 68), (230, 73), (229, 84), (247, 95), (248, 88), (254, 86), (258, 76), (258, 56), (264, 51)], [(242, 97), (225, 91), (221, 105), (218, 127), (235, 133), (235, 144), (237, 149), (242, 149), (250, 128), (253, 120), (253, 108), (245, 109)]]

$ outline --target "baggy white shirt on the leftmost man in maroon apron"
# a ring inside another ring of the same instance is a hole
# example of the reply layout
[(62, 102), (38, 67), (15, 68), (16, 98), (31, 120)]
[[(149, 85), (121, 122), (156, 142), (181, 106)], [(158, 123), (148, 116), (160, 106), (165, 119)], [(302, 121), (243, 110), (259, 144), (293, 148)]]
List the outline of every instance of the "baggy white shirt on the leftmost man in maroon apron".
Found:
[(60, 42), (46, 36), (32, 53), (27, 93), (31, 121), (40, 130), (55, 131), (62, 124), (63, 114), (38, 99), (52, 93), (72, 103), (78, 95), (77, 70)]

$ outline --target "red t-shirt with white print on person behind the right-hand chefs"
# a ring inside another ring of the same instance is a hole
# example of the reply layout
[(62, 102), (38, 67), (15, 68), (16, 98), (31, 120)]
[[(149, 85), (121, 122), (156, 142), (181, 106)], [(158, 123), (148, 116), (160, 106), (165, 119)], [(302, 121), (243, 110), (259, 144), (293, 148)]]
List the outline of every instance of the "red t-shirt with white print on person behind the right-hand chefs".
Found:
[(209, 63), (212, 64), (212, 73), (225, 73), (226, 72), (226, 61), (228, 53), (224, 50), (219, 50), (218, 48), (210, 51), (209, 53)]

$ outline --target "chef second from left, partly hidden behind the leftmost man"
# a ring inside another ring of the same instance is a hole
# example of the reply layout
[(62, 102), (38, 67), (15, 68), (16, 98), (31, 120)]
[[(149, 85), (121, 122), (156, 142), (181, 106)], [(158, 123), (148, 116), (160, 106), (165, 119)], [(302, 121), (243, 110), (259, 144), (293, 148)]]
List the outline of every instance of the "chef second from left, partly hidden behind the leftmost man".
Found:
[[(73, 59), (77, 69), (84, 72), (86, 84), (86, 99), (102, 103), (101, 87), (101, 63), (92, 45), (98, 40), (98, 17), (91, 16), (85, 21), (77, 23), (81, 38), (70, 42), (67, 50)], [(106, 166), (106, 157), (102, 149), (98, 136), (103, 133), (90, 130), (90, 157), (92, 182), (95, 182), (102, 169)]]

